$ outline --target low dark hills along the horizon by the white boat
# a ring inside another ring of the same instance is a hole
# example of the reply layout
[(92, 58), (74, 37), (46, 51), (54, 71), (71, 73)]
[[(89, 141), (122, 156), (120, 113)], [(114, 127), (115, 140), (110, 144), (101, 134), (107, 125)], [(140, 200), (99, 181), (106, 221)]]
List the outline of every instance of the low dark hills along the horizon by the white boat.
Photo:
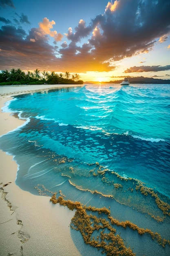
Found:
[[(128, 77), (130, 83), (164, 83), (164, 84), (170, 84), (170, 79), (164, 80), (164, 79), (155, 79), (155, 78), (150, 78), (150, 77), (144, 77), (144, 76), (137, 76), (137, 77)], [(101, 83), (121, 83), (124, 79), (121, 80), (113, 80), (109, 82), (101, 82)], [(86, 84), (89, 83), (99, 83), (99, 82), (92, 82), (92, 81), (87, 81), (84, 82)]]

